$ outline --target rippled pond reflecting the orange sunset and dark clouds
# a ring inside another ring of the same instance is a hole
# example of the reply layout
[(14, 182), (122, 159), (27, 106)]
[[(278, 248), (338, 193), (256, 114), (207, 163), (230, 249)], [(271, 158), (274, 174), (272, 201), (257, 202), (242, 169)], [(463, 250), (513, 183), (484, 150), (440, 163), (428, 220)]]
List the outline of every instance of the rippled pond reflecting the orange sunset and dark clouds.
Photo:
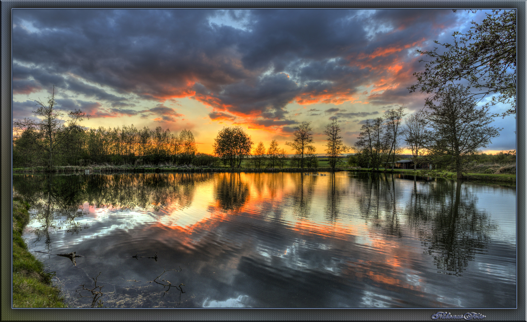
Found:
[(516, 307), (514, 187), (95, 173), (14, 175), (13, 190), (33, 204), (28, 247), (72, 307), (91, 307), (95, 286), (104, 307)]

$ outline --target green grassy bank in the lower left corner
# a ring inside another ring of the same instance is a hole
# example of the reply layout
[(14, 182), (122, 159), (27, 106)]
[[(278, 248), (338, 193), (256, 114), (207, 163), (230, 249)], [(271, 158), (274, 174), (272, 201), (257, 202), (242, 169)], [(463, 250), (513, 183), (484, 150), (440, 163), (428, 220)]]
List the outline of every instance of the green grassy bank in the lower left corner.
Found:
[(60, 289), (51, 283), (52, 273), (28, 250), (22, 230), (30, 220), (29, 205), (13, 199), (13, 307), (66, 307)]

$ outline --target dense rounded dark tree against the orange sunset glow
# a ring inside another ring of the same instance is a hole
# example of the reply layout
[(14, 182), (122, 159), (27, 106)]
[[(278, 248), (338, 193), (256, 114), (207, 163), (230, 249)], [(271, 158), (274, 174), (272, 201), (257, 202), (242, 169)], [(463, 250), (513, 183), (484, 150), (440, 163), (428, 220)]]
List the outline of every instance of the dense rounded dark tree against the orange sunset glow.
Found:
[(214, 154), (231, 168), (239, 168), (242, 160), (251, 154), (252, 140), (241, 126), (229, 126), (220, 130), (212, 147)]

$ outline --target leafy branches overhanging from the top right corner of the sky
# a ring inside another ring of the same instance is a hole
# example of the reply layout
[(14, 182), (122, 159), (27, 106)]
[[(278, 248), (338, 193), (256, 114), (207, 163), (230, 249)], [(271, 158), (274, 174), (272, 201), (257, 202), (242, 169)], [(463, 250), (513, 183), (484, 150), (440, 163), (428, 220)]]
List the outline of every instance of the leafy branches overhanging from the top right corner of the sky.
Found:
[[(455, 12), (455, 11), (454, 11)], [(475, 12), (475, 11), (474, 11)], [(419, 51), (427, 56), (419, 59), (425, 62), (425, 71), (414, 73), (417, 84), (408, 87), (412, 93), (432, 94), (428, 101), (435, 100), (438, 93), (445, 92), (448, 84), (464, 79), (470, 87), (479, 92), (468, 95), (483, 99), (492, 96), (486, 106), (496, 103), (511, 104), (502, 116), (516, 113), (516, 11), (494, 9), (487, 13), (481, 23), (472, 21), (473, 26), (466, 33), (455, 32), (453, 44), (436, 44), (444, 47), (443, 53)]]

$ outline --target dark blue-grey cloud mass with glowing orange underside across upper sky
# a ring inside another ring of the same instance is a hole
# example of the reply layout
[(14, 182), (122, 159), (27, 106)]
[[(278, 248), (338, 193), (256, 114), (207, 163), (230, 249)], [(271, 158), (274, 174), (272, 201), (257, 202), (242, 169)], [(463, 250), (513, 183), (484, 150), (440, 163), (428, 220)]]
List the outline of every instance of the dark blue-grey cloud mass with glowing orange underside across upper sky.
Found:
[[(209, 22), (222, 15), (242, 28)], [(56, 85), (113, 108), (127, 106), (130, 95), (159, 102), (192, 97), (213, 107), (212, 119), (288, 124), (291, 102), (351, 102), (359, 87), (372, 84), (370, 104), (401, 102), (417, 60), (408, 51), (455, 19), (441, 10), (15, 9), (13, 90), (31, 94)], [(96, 115), (121, 113), (88, 107)], [(179, 117), (161, 109), (141, 113)]]

